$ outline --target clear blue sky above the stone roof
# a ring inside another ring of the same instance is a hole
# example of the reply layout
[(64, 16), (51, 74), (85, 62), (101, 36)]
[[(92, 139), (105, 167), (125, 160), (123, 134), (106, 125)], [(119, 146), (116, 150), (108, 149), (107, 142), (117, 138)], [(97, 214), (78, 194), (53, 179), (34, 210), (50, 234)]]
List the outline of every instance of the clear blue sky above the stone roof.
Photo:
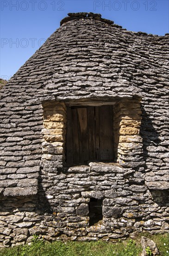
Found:
[(0, 78), (13, 76), (71, 12), (101, 13), (131, 31), (169, 33), (169, 0), (0, 0)]

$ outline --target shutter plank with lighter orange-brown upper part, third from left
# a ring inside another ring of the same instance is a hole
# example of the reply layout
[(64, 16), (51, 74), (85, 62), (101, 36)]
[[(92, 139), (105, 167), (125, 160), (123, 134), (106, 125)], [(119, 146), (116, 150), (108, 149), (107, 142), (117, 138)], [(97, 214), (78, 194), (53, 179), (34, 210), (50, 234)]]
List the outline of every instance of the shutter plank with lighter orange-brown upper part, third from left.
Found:
[(79, 162), (88, 161), (87, 108), (77, 108), (79, 120)]

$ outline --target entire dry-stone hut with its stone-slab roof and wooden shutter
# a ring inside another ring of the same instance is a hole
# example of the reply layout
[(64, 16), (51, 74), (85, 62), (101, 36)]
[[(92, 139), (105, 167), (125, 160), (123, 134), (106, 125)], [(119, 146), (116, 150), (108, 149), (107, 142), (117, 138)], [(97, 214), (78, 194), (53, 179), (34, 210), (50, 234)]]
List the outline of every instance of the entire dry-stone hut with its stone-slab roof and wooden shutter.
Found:
[(69, 13), (0, 91), (0, 242), (169, 232), (169, 34)]

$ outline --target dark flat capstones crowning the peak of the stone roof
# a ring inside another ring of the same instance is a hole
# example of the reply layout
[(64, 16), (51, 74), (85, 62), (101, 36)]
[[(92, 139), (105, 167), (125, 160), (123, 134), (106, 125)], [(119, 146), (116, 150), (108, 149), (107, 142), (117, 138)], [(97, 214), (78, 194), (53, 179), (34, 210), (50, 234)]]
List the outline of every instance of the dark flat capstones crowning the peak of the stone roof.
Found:
[[(114, 24), (113, 20), (106, 20), (101, 18), (100, 13), (68, 13), (68, 17), (65, 17), (63, 18), (63, 20), (61, 20), (60, 26), (62, 26), (64, 23), (70, 20), (91, 19), (91, 18), (93, 18), (94, 20), (99, 20), (109, 25)], [(118, 26), (118, 27), (121, 27), (121, 26)]]

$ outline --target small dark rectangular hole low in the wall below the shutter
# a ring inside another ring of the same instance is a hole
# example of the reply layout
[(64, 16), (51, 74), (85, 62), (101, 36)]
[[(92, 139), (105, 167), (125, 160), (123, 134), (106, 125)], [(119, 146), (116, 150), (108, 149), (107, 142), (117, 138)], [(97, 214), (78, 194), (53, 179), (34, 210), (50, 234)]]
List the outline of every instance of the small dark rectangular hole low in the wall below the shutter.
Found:
[(89, 226), (93, 226), (103, 219), (102, 199), (90, 198), (89, 205)]

